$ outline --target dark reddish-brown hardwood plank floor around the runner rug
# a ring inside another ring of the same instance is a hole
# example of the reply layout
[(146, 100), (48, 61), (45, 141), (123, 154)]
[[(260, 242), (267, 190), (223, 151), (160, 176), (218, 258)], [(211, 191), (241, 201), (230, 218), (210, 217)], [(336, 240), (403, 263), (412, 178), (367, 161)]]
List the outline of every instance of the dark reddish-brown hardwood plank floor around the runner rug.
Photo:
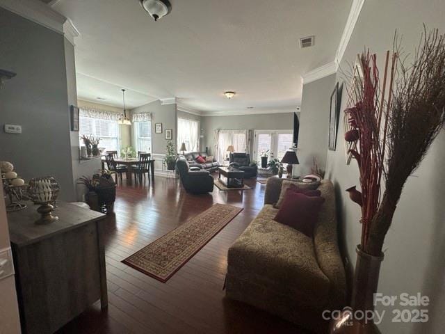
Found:
[[(225, 299), (227, 249), (264, 200), (264, 184), (254, 179), (246, 184), (252, 190), (215, 187), (199, 196), (163, 177), (143, 186), (118, 186), (115, 216), (106, 221), (108, 310), (96, 303), (60, 333), (303, 333), (278, 317)], [(120, 262), (215, 203), (244, 209), (167, 283)]]

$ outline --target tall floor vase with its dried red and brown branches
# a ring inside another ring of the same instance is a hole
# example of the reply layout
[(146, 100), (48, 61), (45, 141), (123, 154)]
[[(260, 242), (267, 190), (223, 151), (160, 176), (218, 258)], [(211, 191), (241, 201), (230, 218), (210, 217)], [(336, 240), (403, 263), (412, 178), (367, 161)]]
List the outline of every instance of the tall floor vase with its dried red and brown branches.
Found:
[[(386, 54), (382, 80), (375, 54), (360, 57), (363, 77), (358, 89), (348, 92), (351, 103), (345, 112), (352, 129), (345, 139), (357, 141), (357, 150), (351, 153), (359, 166), (361, 191), (355, 186), (347, 191), (362, 211), (362, 236), (357, 246), (352, 311), (332, 322), (331, 333), (380, 333), (372, 319), (355, 315), (374, 310), (382, 246), (403, 186), (445, 124), (444, 40), (437, 29), (425, 31), (410, 66), (401, 61), (396, 40), (391, 61), (389, 51)], [(385, 187), (380, 183), (382, 176)]]

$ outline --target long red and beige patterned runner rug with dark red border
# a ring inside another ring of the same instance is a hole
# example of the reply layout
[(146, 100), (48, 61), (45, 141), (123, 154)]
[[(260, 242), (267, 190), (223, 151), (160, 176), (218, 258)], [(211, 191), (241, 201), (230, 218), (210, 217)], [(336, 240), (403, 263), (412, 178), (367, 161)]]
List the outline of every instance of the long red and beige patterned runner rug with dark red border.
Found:
[(165, 283), (242, 210), (215, 204), (122, 262)]

